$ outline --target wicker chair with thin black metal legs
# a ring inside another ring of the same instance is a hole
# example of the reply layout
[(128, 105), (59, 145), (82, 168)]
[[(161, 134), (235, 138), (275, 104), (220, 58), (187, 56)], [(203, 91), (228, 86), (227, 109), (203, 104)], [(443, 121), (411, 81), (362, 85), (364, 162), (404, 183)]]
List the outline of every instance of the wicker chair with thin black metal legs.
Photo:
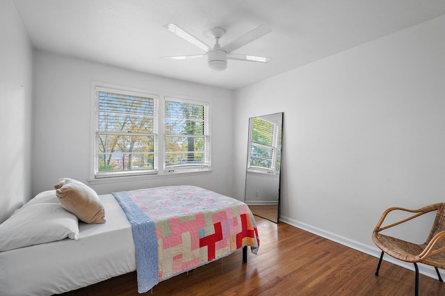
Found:
[[(385, 217), (391, 211), (405, 211), (413, 213), (412, 216), (407, 217), (404, 220), (389, 224), (382, 227), (382, 223)], [(421, 245), (414, 244), (413, 242), (407, 242), (398, 238), (393, 238), (391, 236), (385, 236), (380, 233), (385, 229), (389, 229), (403, 222), (419, 217), (425, 213), (437, 211), (435, 220), (432, 224), (430, 233), (426, 242)], [(442, 277), (440, 277), (439, 270), (437, 268), (445, 269), (445, 203), (444, 204), (432, 204), (431, 206), (426, 206), (419, 208), (418, 210), (408, 210), (406, 208), (388, 208), (380, 218), (377, 226), (373, 231), (373, 241), (377, 247), (382, 250), (380, 255), (380, 260), (378, 261), (377, 270), (375, 270), (375, 275), (378, 276), (378, 271), (380, 269), (380, 264), (382, 263), (383, 254), (388, 254), (394, 258), (401, 261), (414, 263), (414, 269), (416, 271), (415, 275), (415, 293), (416, 296), (419, 295), (419, 268), (417, 263), (424, 263), (427, 265), (434, 266), (439, 281), (443, 282)]]

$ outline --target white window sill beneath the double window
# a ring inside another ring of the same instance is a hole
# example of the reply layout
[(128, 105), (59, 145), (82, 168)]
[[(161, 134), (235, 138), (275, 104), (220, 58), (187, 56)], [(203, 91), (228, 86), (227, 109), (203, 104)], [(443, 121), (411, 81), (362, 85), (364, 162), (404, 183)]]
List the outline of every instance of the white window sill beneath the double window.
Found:
[(191, 171), (181, 172), (177, 170), (176, 172), (166, 171), (163, 174), (145, 174), (137, 176), (109, 176), (106, 178), (94, 178), (94, 179), (88, 179), (88, 183), (90, 183), (90, 185), (95, 185), (95, 184), (106, 184), (115, 182), (144, 181), (144, 180), (154, 180), (162, 178), (172, 178), (178, 176), (193, 176), (198, 174), (209, 174), (209, 173), (211, 173), (211, 169), (193, 171), (193, 172)]

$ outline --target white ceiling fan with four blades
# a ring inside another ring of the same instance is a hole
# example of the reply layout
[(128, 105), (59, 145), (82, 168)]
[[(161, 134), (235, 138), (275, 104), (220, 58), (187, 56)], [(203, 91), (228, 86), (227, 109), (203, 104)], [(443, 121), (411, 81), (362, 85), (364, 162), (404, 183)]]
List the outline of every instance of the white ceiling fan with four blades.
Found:
[(184, 60), (186, 58), (200, 58), (202, 56), (207, 56), (208, 64), (211, 69), (217, 70), (217, 71), (223, 71), (227, 68), (227, 59), (229, 60), (247, 60), (250, 62), (259, 62), (259, 63), (268, 63), (272, 58), (265, 58), (262, 56), (248, 56), (245, 54), (233, 54), (232, 51), (235, 51), (236, 49), (243, 47), (245, 44), (248, 44), (254, 40), (257, 40), (258, 38), (270, 33), (272, 31), (271, 28), (268, 28), (268, 26), (257, 26), (257, 28), (254, 28), (252, 31), (249, 31), (248, 33), (245, 33), (244, 35), (241, 35), (240, 37), (236, 38), (236, 40), (230, 42), (229, 44), (226, 44), (225, 46), (221, 47), (219, 44), (219, 40), (221, 37), (223, 37), (225, 30), (223, 28), (212, 28), (211, 33), (213, 37), (216, 40), (215, 45), (213, 47), (209, 47), (209, 45), (205, 44), (201, 40), (195, 38), (193, 35), (185, 31), (184, 29), (180, 28), (176, 24), (165, 24), (164, 28), (168, 29), (168, 31), (178, 35), (179, 37), (183, 38), (184, 40), (187, 40), (188, 42), (191, 42), (191, 44), (194, 44), (195, 46), (199, 47), (200, 49), (206, 51), (205, 54), (197, 54), (193, 56), (166, 56), (163, 58), (170, 58), (175, 60)]

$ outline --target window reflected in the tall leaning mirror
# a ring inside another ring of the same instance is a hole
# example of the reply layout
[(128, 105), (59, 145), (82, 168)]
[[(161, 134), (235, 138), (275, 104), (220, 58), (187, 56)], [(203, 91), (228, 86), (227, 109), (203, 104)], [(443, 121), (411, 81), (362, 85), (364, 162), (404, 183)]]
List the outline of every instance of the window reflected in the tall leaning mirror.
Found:
[(264, 117), (251, 120), (248, 171), (280, 174), (282, 125)]

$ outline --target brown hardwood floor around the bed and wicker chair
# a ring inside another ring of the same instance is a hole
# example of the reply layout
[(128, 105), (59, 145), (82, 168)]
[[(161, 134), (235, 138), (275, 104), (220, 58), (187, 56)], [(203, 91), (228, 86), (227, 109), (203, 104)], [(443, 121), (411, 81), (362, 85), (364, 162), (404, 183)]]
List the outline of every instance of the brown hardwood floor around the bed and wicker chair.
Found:
[[(256, 217), (257, 256), (242, 252), (161, 281), (146, 295), (414, 295), (414, 272), (315, 236)], [(371, 235), (371, 233), (370, 233)], [(445, 283), (419, 277), (420, 295), (445, 295)], [(140, 295), (136, 272), (67, 295)]]

